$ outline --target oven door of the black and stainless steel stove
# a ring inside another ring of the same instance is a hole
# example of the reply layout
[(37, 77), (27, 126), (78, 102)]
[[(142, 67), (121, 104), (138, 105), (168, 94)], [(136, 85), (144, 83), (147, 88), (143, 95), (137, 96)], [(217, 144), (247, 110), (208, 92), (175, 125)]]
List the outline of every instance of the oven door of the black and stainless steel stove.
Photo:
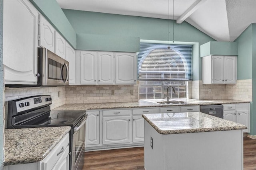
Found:
[(84, 166), (85, 150), (85, 127), (86, 119), (77, 127), (74, 127), (73, 146), (72, 146), (72, 170), (82, 170)]

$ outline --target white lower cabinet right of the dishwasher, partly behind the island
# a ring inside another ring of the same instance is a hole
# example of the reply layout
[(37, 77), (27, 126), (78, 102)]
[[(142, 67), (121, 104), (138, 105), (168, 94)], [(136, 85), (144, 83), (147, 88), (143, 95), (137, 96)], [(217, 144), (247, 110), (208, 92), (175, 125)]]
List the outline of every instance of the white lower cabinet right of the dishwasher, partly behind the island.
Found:
[(250, 103), (224, 104), (223, 119), (246, 125), (244, 133), (250, 132)]

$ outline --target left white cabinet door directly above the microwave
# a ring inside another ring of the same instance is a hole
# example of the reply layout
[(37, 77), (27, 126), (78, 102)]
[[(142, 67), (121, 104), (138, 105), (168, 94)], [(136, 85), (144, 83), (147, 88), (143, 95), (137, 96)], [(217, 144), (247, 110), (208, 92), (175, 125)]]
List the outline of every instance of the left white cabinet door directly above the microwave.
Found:
[(40, 15), (40, 40), (39, 45), (52, 51), (54, 53), (55, 51), (55, 29), (52, 27), (52, 25), (43, 17)]

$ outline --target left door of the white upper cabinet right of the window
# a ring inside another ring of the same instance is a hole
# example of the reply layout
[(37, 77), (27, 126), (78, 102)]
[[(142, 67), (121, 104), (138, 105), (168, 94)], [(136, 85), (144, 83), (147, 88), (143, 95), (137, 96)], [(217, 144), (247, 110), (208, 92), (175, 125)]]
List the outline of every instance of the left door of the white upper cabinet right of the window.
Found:
[(224, 83), (224, 57), (212, 56), (212, 83)]

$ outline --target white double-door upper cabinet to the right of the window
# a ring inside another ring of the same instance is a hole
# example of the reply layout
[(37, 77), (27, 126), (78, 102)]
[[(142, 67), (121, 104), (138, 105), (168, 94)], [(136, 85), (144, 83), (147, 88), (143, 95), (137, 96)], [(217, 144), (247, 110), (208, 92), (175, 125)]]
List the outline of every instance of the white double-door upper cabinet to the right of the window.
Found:
[(202, 80), (203, 84), (235, 84), (236, 56), (203, 57)]

